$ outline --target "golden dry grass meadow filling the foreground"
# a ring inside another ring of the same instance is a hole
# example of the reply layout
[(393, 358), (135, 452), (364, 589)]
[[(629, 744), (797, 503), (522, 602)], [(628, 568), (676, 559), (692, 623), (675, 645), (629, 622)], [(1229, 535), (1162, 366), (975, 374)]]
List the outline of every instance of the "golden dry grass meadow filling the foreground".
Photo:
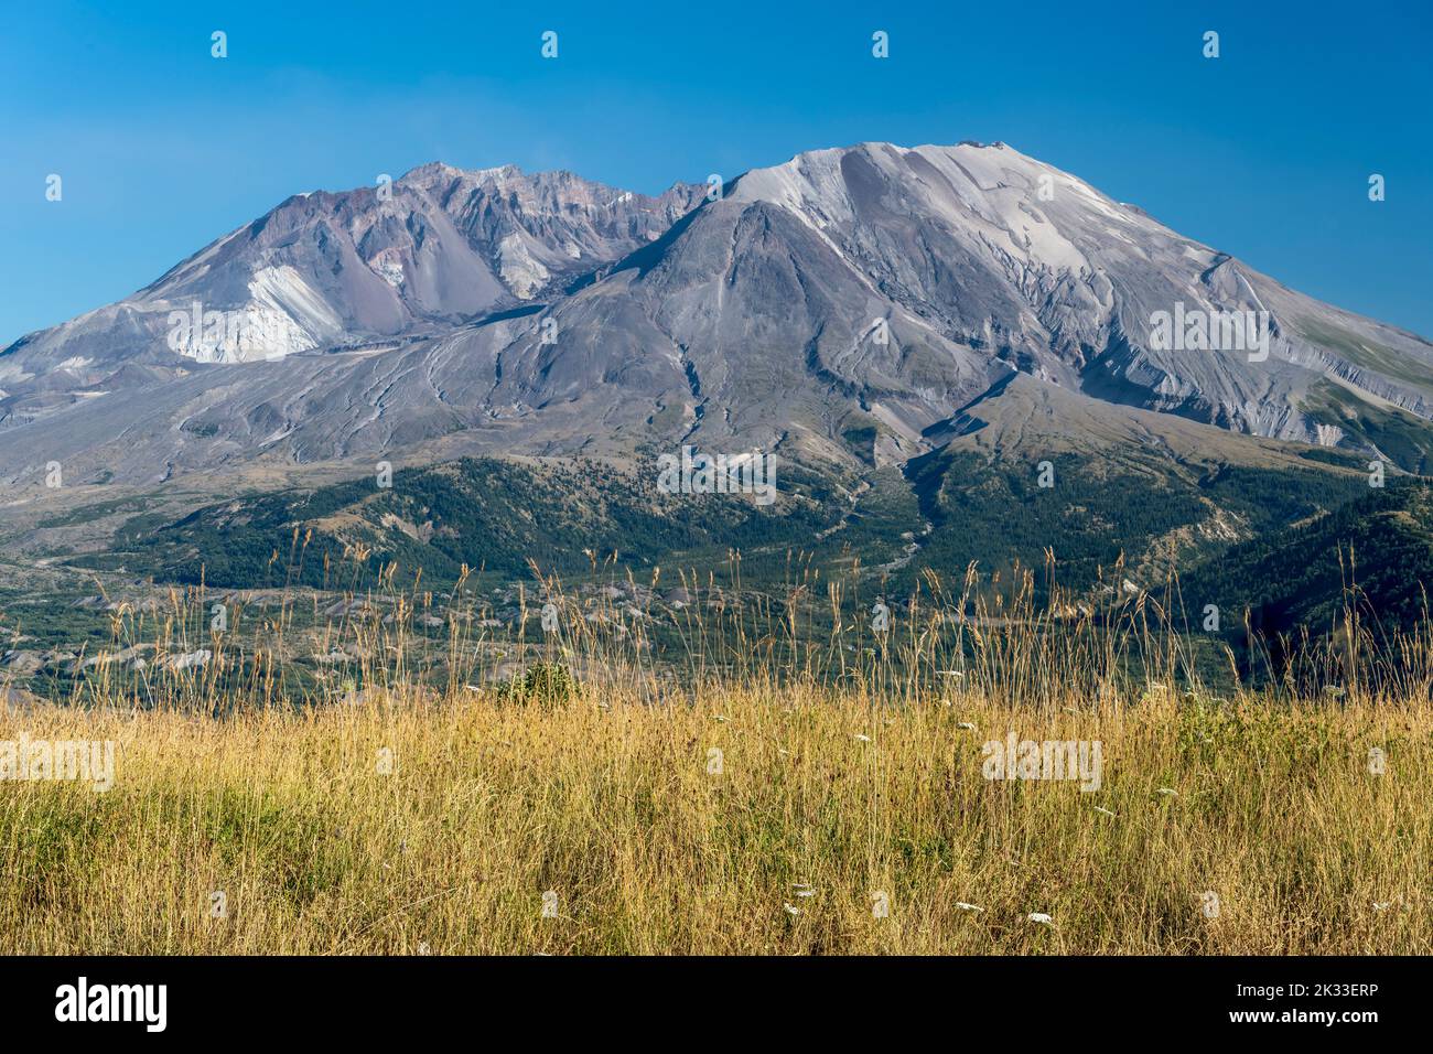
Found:
[[(464, 688), (221, 720), (39, 706), (0, 716), (0, 740), (112, 739), (116, 779), (0, 783), (0, 935), (30, 954), (1433, 951), (1426, 706), (1066, 704), (747, 677), (555, 707)], [(1012, 730), (1099, 740), (1101, 790), (986, 780), (982, 743)]]

